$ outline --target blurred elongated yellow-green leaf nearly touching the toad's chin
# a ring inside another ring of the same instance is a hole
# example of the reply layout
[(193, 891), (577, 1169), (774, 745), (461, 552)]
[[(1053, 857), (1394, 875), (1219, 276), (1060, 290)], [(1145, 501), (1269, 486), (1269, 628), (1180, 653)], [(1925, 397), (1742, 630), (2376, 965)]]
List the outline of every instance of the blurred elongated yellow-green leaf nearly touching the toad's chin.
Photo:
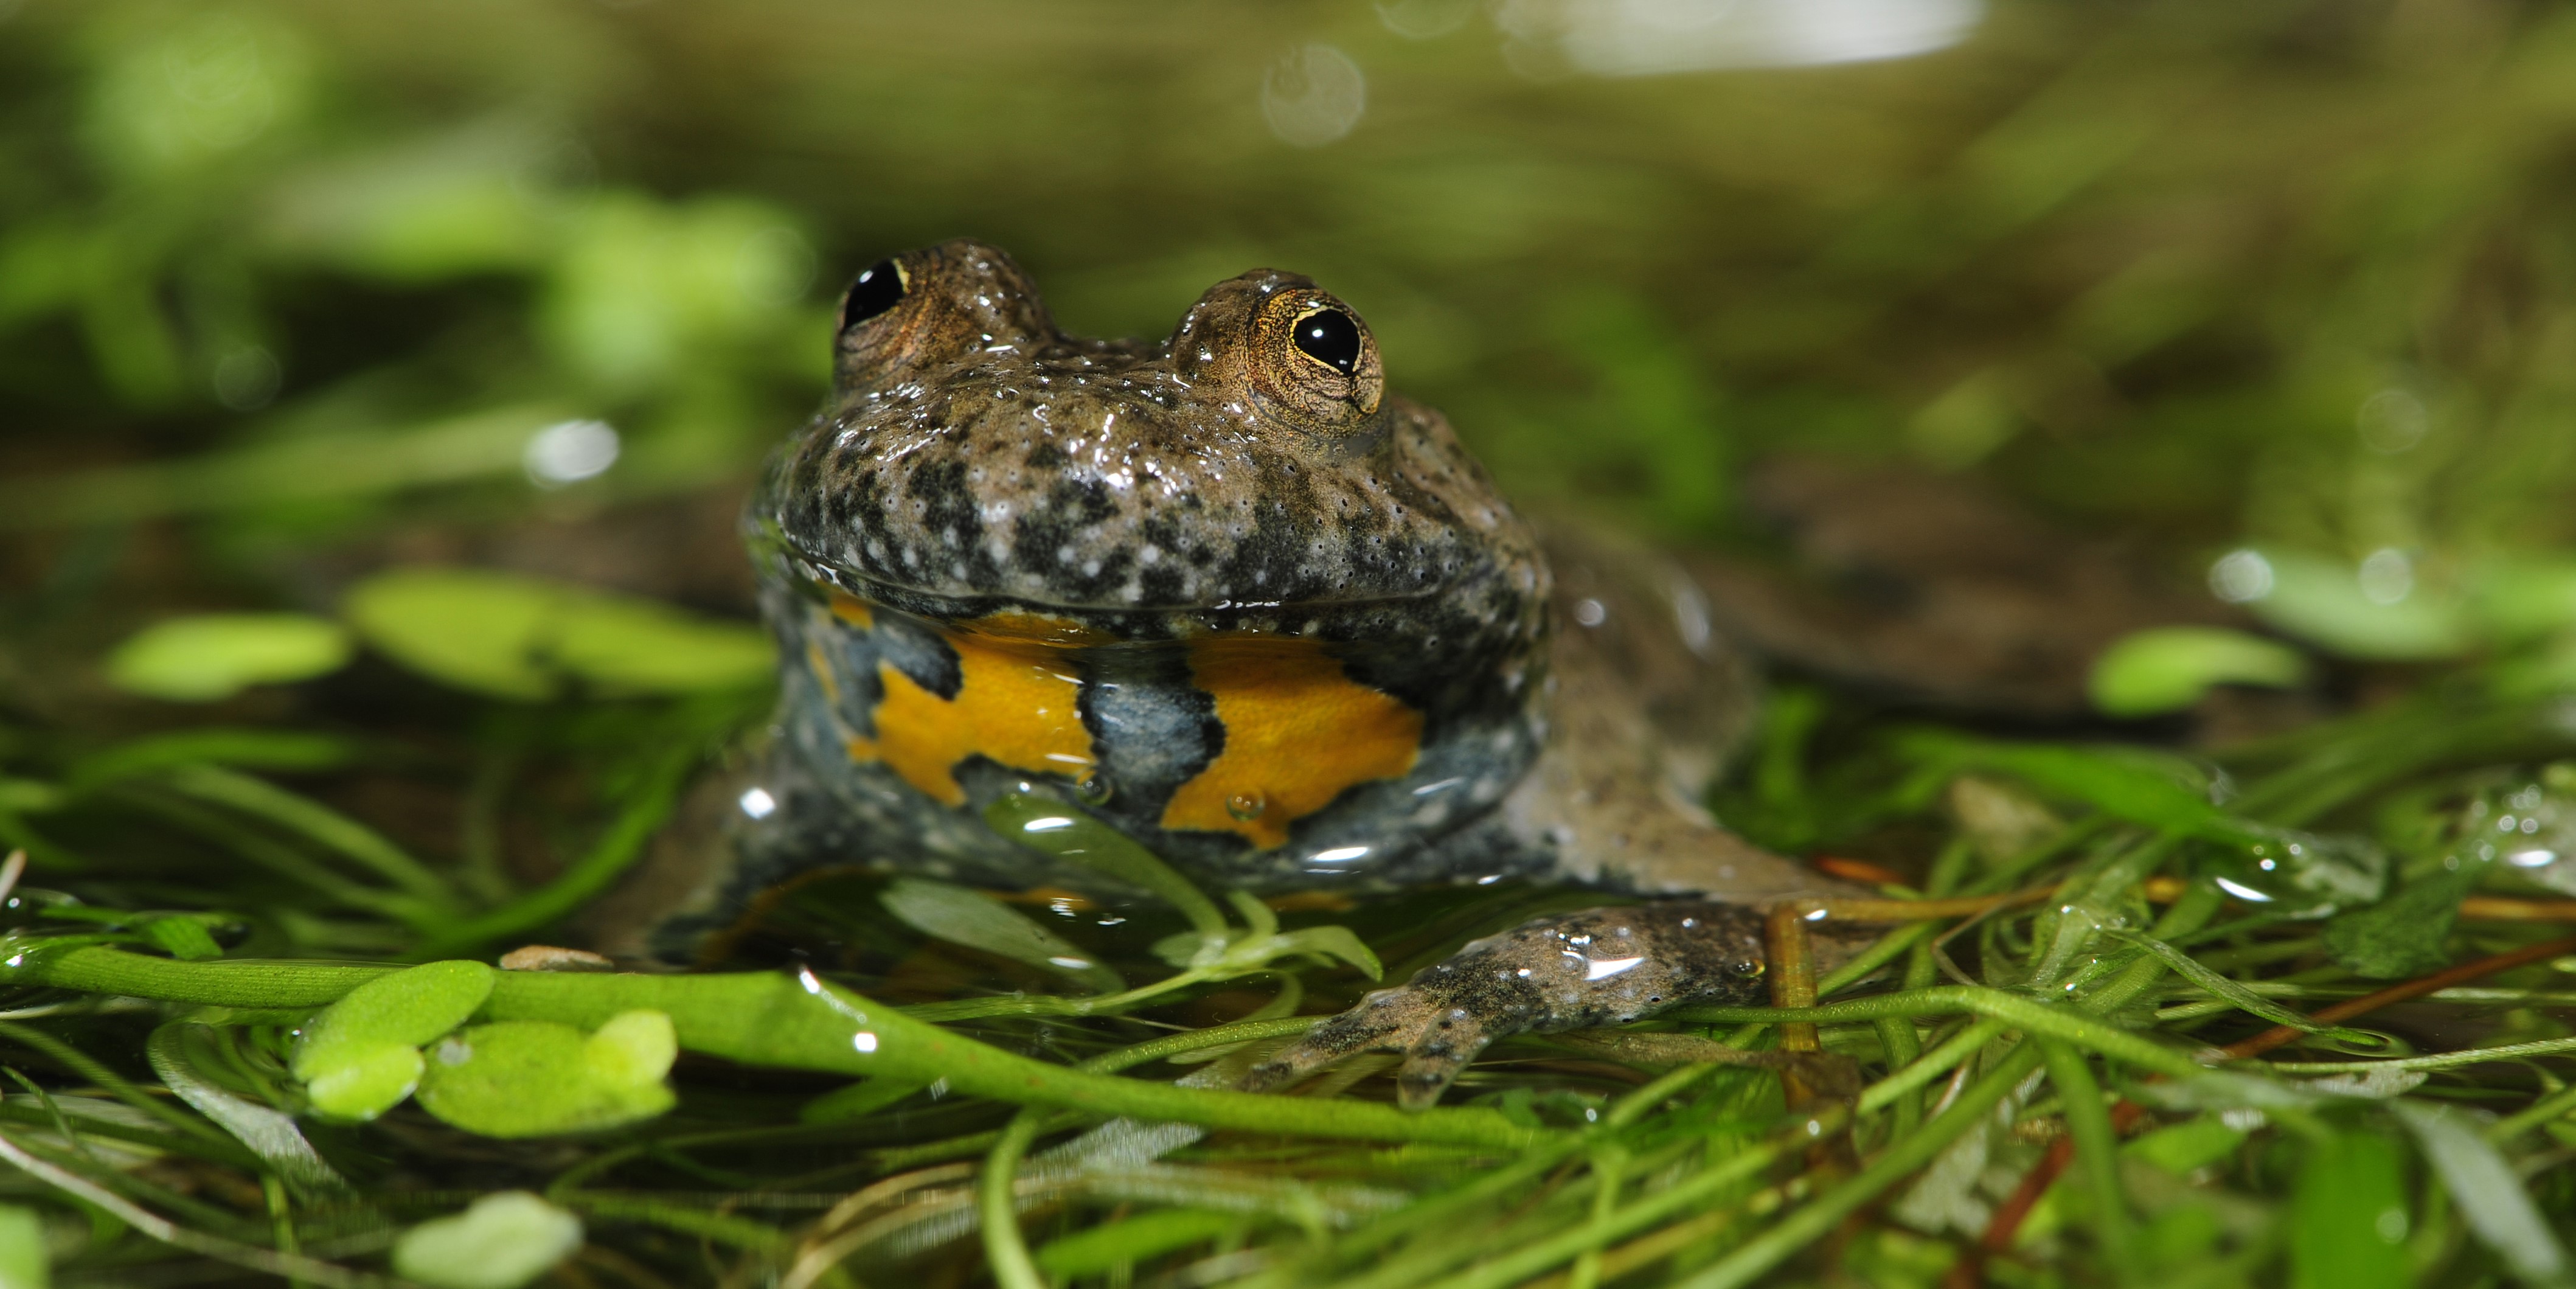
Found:
[(502, 699), (688, 693), (755, 686), (773, 650), (757, 626), (492, 570), (410, 567), (350, 590), (350, 624), (386, 657)]

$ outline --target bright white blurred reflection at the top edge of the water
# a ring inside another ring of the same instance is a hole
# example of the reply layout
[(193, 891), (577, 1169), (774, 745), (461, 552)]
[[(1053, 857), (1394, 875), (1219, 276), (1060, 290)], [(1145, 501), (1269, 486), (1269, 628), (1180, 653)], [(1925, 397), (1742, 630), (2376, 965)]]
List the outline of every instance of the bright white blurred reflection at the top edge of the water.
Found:
[(1595, 75), (1808, 67), (1929, 54), (1984, 0), (1504, 0), (1497, 23)]

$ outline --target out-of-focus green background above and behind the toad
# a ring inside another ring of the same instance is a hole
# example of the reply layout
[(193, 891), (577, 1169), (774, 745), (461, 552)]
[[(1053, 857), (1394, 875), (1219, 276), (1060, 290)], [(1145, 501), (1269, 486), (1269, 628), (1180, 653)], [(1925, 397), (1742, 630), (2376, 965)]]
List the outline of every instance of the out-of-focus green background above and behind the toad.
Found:
[(0, 0), (0, 608), (739, 487), (840, 284), (976, 235), (1082, 333), (1306, 271), (1669, 539), (1904, 459), (2460, 652), (2576, 611), (2571, 144), (2501, 0)]

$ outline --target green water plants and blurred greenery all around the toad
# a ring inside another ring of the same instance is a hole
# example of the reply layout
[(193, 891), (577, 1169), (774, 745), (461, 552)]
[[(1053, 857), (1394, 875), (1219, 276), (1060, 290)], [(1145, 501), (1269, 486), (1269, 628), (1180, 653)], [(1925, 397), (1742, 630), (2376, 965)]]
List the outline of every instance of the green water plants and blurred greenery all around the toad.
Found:
[[(1613, 10), (0, 0), (0, 1284), (2576, 1281), (2576, 21), (1597, 75)], [(1875, 944), (1425, 1114), (1226, 1085), (1592, 897), (1262, 902), (1030, 797), (1154, 900), (495, 969), (757, 732), (732, 510), (945, 235), (1092, 333), (1314, 273), (1674, 544), (1901, 461), (2210, 616), (2089, 712), (1775, 660), (1710, 804)]]

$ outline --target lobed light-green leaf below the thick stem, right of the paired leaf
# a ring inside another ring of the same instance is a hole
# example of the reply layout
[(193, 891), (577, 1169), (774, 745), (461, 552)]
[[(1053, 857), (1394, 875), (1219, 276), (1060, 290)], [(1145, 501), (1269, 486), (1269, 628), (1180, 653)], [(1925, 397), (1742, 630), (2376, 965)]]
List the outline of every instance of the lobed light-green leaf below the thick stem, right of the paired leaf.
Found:
[(474, 1026), (430, 1049), (420, 1106), (484, 1137), (592, 1132), (667, 1111), (670, 1016), (626, 1011), (595, 1034), (554, 1021)]

